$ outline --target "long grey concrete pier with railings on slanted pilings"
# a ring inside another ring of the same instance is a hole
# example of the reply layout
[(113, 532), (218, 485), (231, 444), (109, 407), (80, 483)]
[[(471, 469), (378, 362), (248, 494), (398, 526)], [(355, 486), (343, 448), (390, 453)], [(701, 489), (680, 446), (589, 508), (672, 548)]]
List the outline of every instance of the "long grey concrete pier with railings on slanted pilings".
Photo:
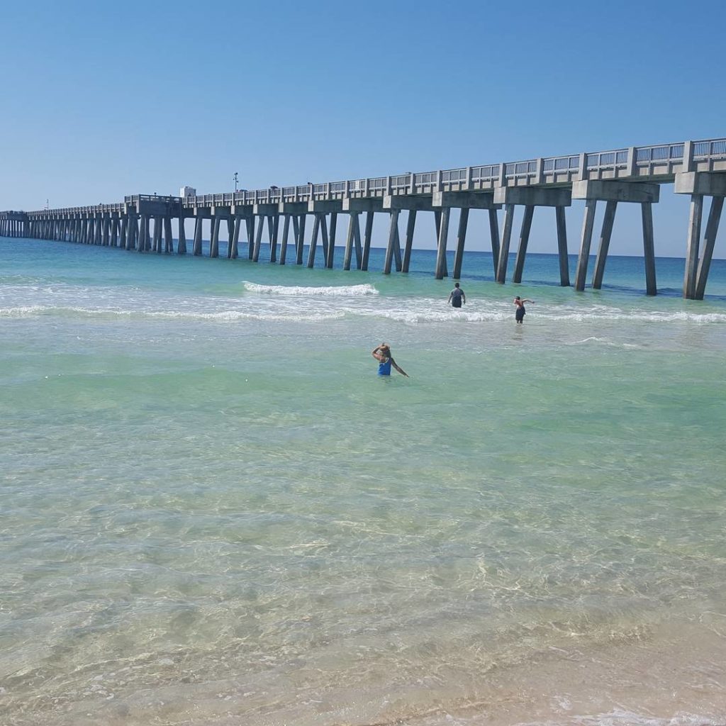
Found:
[[(470, 213), (481, 210), (489, 221), (494, 279), (504, 284), (516, 208), (523, 207), (523, 216), (511, 280), (521, 282), (534, 211), (547, 207), (555, 211), (552, 221), (557, 232), (560, 285), (567, 287), (571, 280), (565, 208), (571, 206), (572, 200), (584, 200), (579, 256), (572, 283), (574, 290), (582, 292), (587, 284), (597, 203), (605, 203), (605, 213), (592, 271), (595, 289), (603, 285), (618, 205), (630, 203), (639, 204), (641, 208), (645, 289), (648, 295), (656, 295), (653, 205), (660, 198), (661, 184), (674, 184), (675, 193), (690, 195), (690, 216), (688, 224), (684, 222), (683, 296), (702, 300), (726, 196), (726, 139), (626, 147), (255, 191), (187, 197), (131, 195), (115, 204), (5, 211), (0, 212), (0, 236), (104, 245), (142, 253), (183, 255), (191, 252), (199, 256), (206, 224), (209, 255), (219, 257), (219, 228), (224, 223), (228, 242), (227, 249), (222, 252), (229, 259), (237, 258), (240, 245), (246, 244), (248, 259), (257, 262), (263, 237), (266, 237), (271, 263), (313, 267), (320, 249), (325, 267), (333, 268), (340, 215), (347, 219), (343, 269), (349, 270), (354, 264), (356, 269), (367, 270), (373, 220), (378, 213), (389, 219), (383, 274), (391, 274), (393, 269), (408, 272), (420, 213), (431, 213), (429, 219), (435, 225), (438, 245), (433, 274), (441, 280), (449, 276), (446, 252), (452, 209), (460, 211), (452, 269), (452, 277), (456, 279), (462, 273)], [(710, 198), (709, 215), (702, 239), (703, 208), (707, 198)], [(500, 230), (499, 211), (502, 210)], [(407, 220), (403, 240), (399, 229), (401, 212), (406, 212)], [(308, 220), (309, 216), (311, 220)], [(187, 219), (194, 220), (189, 243)], [(176, 249), (172, 237), (173, 220), (179, 229)], [(310, 227), (305, 258), (305, 232)]]

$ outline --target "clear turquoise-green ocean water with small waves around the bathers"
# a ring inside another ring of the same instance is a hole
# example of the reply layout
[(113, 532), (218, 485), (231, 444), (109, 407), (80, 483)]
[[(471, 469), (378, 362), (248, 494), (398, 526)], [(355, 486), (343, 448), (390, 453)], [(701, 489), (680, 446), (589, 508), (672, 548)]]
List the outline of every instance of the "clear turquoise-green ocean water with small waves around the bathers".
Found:
[(382, 256), (0, 240), (2, 726), (726, 721), (726, 262)]

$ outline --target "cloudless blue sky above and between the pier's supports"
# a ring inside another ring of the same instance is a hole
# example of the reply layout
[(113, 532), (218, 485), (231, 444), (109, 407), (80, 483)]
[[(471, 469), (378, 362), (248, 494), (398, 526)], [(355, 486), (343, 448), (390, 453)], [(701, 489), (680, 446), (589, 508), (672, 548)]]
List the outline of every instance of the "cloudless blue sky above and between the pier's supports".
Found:
[[(7, 1), (0, 208), (726, 136), (725, 20), (722, 1)], [(683, 256), (688, 199), (665, 186), (653, 213), (656, 254)], [(489, 249), (475, 216), (467, 247)], [(574, 203), (571, 252), (581, 224)], [(642, 253), (639, 225), (619, 211), (611, 252)], [(536, 211), (530, 249), (554, 240)]]

